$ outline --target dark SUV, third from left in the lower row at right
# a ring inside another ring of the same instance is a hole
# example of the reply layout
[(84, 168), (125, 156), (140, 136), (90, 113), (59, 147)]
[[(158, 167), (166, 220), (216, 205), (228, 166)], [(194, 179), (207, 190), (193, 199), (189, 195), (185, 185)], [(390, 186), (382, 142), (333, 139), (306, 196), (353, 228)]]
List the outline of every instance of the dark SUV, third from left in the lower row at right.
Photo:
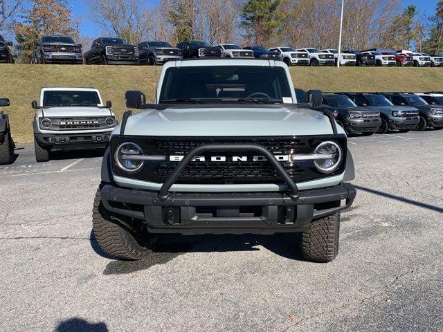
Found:
[(419, 111), (420, 121), (415, 130), (424, 131), (431, 127), (443, 128), (443, 106), (430, 105), (419, 95), (413, 93), (381, 93), (388, 98), (392, 104), (399, 106), (415, 107)]

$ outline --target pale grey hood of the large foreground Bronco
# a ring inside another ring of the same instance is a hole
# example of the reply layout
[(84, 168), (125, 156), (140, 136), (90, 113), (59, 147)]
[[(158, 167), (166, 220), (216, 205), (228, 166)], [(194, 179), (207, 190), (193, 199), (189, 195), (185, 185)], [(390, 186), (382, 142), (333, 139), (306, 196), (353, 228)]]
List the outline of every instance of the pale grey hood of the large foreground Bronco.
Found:
[(177, 105), (163, 111), (152, 109), (130, 116), (125, 134), (188, 137), (306, 136), (330, 135), (332, 127), (329, 119), (318, 111), (284, 105)]

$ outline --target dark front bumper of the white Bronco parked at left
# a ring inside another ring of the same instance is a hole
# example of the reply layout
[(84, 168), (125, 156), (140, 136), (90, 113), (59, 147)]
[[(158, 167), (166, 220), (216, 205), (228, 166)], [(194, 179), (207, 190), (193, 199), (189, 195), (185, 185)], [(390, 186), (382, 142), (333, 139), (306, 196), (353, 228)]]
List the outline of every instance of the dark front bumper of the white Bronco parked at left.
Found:
[(109, 143), (112, 131), (87, 133), (35, 133), (42, 147), (104, 147)]

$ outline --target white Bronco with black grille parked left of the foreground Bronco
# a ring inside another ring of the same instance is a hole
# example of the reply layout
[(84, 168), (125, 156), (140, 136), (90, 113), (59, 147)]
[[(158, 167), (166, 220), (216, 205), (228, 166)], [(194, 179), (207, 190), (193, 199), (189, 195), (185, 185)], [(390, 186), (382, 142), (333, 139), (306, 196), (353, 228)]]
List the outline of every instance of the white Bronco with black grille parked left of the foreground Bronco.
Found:
[(35, 160), (48, 161), (53, 150), (96, 149), (109, 144), (116, 116), (93, 88), (42, 89), (33, 121)]

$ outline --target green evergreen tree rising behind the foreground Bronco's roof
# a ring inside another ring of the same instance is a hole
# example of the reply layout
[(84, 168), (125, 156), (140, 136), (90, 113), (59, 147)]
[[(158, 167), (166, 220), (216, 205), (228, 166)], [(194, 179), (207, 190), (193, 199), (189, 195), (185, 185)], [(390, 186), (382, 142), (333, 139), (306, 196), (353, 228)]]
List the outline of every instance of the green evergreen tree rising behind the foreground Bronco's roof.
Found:
[(275, 40), (275, 31), (283, 24), (280, 0), (248, 0), (242, 10), (242, 27), (249, 39), (257, 45), (269, 45)]

